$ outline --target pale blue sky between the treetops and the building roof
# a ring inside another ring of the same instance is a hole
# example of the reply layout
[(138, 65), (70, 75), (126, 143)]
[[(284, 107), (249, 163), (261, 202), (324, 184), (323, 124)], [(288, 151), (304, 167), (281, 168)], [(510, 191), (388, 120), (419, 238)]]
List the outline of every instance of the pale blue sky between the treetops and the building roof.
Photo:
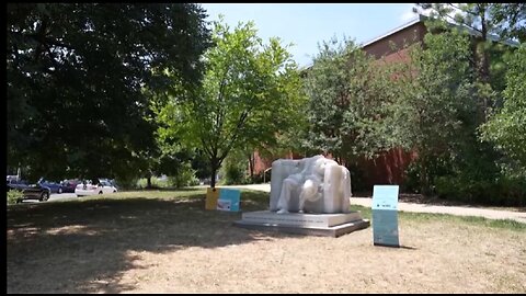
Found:
[(258, 36), (267, 42), (279, 37), (299, 67), (312, 64), (318, 44), (336, 37), (362, 44), (401, 26), (414, 18), (414, 3), (202, 3), (207, 21), (225, 21), (235, 27), (239, 22), (254, 21)]

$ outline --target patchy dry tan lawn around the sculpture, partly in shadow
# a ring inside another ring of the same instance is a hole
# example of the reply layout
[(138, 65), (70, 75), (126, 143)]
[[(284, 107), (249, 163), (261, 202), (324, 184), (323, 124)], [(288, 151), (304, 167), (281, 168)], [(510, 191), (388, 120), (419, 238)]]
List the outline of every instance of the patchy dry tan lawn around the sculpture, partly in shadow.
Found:
[[(204, 190), (8, 207), (8, 293), (524, 293), (526, 226), (400, 213), (404, 248), (232, 226)], [(242, 210), (266, 208), (243, 191)], [(370, 218), (370, 209), (354, 206)]]

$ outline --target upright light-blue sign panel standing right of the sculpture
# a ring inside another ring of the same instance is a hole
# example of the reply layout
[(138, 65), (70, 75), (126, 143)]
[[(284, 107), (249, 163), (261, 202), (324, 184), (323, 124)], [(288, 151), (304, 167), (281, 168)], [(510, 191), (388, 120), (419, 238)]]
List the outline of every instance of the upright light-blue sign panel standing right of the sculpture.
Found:
[(374, 244), (400, 247), (398, 238), (398, 185), (375, 185), (373, 189)]

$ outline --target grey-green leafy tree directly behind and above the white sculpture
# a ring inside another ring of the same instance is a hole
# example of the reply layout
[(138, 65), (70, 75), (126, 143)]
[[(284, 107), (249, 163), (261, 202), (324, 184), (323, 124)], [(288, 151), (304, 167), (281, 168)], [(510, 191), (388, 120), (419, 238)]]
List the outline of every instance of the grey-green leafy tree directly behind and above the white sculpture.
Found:
[(339, 162), (373, 157), (389, 146), (384, 118), (387, 76), (352, 41), (323, 42), (307, 71), (310, 129), (306, 147)]

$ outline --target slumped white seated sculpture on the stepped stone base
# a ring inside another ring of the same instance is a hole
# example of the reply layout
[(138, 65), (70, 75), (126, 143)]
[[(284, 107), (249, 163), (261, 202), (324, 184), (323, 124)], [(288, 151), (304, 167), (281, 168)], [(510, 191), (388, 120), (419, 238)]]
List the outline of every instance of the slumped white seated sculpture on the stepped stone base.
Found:
[(351, 174), (319, 155), (272, 162), (270, 210), (278, 214), (348, 213)]

